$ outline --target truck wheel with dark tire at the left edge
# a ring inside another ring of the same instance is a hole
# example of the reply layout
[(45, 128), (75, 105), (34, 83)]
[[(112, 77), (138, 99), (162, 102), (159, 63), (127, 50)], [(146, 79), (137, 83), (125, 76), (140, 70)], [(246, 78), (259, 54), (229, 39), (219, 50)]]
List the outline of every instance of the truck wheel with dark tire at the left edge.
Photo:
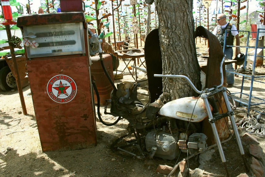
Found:
[(0, 69), (0, 89), (9, 91), (17, 87), (16, 79), (8, 66)]

